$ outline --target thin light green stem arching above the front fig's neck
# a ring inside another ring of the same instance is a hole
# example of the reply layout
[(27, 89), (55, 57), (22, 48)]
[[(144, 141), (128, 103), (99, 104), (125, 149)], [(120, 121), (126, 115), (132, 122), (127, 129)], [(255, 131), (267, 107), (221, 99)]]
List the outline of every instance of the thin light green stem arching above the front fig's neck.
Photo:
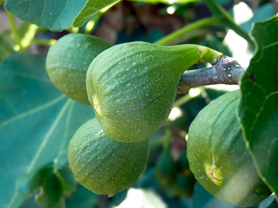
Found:
[(192, 22), (188, 25), (185, 25), (184, 27), (181, 27), (179, 30), (172, 32), (169, 35), (162, 37), (161, 39), (154, 42), (154, 44), (166, 45), (167, 43), (180, 37), (181, 35), (184, 35), (185, 33), (189, 32), (191, 30), (194, 30), (194, 29), (197, 29), (199, 27), (203, 27), (203, 26), (206, 26), (209, 24), (219, 24), (219, 23), (220, 23), (220, 21), (216, 17), (208, 17), (208, 18), (200, 19), (200, 20)]

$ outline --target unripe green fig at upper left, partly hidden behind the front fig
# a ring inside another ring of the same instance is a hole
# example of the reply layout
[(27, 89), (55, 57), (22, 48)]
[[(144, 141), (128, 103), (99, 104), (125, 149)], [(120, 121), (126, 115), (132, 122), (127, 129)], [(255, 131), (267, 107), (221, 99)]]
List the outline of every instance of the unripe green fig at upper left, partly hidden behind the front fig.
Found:
[(89, 105), (86, 73), (92, 60), (111, 44), (98, 37), (71, 33), (49, 48), (46, 71), (50, 80), (64, 94)]

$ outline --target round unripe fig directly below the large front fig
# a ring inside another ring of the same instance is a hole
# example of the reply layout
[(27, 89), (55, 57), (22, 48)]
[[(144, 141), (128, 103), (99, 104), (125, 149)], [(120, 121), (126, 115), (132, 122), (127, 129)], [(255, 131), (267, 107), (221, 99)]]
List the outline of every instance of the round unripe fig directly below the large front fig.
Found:
[(144, 171), (150, 140), (122, 143), (107, 137), (96, 118), (80, 126), (70, 140), (68, 160), (77, 181), (97, 194), (113, 195)]

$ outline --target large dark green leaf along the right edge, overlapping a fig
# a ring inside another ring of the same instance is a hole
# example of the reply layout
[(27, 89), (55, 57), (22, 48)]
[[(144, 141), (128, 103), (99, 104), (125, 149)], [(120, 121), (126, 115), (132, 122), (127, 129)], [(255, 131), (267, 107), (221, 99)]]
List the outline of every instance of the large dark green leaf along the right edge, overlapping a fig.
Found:
[(242, 76), (239, 119), (259, 176), (278, 193), (278, 15), (256, 22), (256, 52)]

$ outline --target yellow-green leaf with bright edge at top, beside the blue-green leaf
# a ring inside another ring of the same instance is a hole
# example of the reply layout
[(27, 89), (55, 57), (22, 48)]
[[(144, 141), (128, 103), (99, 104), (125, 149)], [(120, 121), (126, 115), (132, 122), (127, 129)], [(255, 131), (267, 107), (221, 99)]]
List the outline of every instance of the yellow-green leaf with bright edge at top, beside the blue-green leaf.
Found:
[(88, 19), (93, 17), (96, 12), (104, 9), (106, 6), (119, 2), (121, 0), (88, 0), (83, 9), (77, 14), (73, 21), (74, 27), (81, 27)]

